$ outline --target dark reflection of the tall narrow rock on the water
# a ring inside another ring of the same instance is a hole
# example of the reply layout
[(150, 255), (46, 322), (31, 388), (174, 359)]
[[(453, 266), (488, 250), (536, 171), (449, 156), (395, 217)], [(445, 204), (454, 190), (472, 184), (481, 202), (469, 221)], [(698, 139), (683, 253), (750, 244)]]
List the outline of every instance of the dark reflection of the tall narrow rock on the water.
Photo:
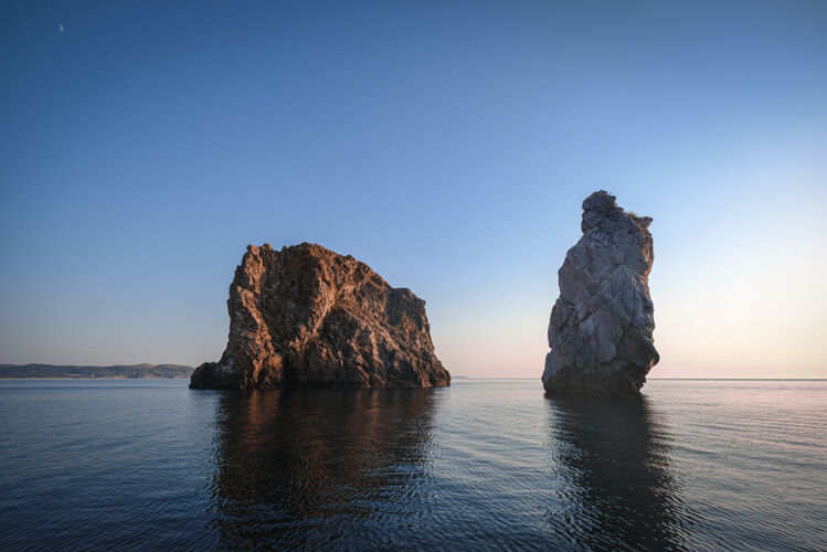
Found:
[(549, 397), (555, 533), (576, 549), (675, 550), (693, 516), (670, 466), (670, 435), (645, 397)]

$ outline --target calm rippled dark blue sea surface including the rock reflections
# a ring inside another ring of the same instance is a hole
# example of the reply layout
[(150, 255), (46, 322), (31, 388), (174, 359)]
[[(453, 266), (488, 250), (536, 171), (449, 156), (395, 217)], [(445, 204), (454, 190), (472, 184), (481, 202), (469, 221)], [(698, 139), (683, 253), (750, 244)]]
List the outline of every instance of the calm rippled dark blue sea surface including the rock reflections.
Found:
[(827, 382), (0, 382), (0, 549), (827, 549)]

